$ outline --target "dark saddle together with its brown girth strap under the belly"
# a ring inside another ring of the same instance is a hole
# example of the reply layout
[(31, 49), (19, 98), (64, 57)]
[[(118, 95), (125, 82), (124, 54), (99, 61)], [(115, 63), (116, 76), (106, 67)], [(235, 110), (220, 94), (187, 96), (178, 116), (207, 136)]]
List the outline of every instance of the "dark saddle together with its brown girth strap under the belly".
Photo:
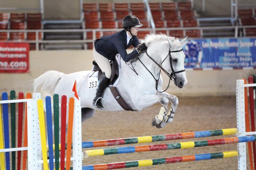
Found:
[[(111, 65), (111, 78), (109, 85), (113, 85), (116, 79), (119, 77), (119, 65), (116, 59), (113, 59), (110, 61)], [(93, 60), (93, 71), (99, 71), (98, 72), (98, 80), (102, 76), (102, 70), (99, 68), (99, 65), (95, 60)], [(111, 93), (113, 94), (116, 101), (119, 103), (119, 105), (125, 110), (125, 111), (137, 111), (132, 109), (122, 98), (122, 96), (119, 94), (116, 87), (109, 86)]]

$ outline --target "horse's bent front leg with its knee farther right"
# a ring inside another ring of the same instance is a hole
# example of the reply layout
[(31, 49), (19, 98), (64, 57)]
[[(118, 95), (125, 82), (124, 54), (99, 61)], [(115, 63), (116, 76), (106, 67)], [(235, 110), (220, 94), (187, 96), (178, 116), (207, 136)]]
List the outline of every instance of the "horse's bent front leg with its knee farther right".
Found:
[(170, 107), (168, 113), (164, 116), (164, 119), (160, 123), (160, 126), (157, 126), (157, 127), (164, 127), (166, 124), (171, 123), (173, 121), (175, 111), (179, 104), (179, 100), (178, 100), (177, 96), (168, 94), (166, 92), (163, 92), (162, 94), (165, 95), (169, 99), (169, 101), (171, 102), (171, 107)]

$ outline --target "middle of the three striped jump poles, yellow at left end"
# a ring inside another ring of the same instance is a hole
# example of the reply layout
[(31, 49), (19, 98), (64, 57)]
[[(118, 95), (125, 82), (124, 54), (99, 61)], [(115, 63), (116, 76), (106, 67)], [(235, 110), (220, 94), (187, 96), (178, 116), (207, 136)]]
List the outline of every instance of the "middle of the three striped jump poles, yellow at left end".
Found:
[(241, 142), (253, 142), (256, 141), (256, 135), (224, 138), (224, 139), (211, 139), (195, 142), (180, 142), (180, 143), (169, 143), (169, 144), (152, 144), (144, 146), (131, 146), (131, 147), (116, 147), (96, 150), (85, 150), (84, 153), (87, 156), (102, 156), (122, 153), (135, 153), (135, 152), (147, 152), (156, 150), (173, 150), (173, 149), (184, 149), (192, 147), (204, 147), (213, 146), (220, 144), (232, 144)]

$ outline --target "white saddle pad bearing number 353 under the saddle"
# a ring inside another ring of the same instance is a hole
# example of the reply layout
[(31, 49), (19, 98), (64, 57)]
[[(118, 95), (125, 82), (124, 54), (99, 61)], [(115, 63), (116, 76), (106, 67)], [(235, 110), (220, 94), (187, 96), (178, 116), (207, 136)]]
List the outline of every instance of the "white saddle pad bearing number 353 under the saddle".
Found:
[[(120, 57), (121, 57), (120, 54), (116, 54), (116, 61), (118, 63), (119, 77), (120, 77), (120, 64), (121, 64)], [(89, 77), (87, 78), (87, 88), (88, 89), (95, 89), (98, 87), (98, 83), (99, 83), (98, 73), (99, 73), (99, 71), (96, 71), (95, 73), (94, 73), (94, 71), (90, 72)], [(113, 85), (109, 85), (109, 86), (115, 87), (119, 82), (119, 77), (116, 79), (116, 81), (113, 83)]]

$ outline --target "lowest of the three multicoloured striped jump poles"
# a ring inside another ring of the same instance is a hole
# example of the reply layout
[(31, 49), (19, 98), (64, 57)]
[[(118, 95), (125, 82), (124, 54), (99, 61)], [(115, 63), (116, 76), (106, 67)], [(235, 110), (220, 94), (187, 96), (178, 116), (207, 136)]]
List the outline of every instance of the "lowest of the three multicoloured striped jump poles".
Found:
[(113, 170), (113, 169), (122, 169), (129, 167), (145, 167), (158, 164), (171, 164), (177, 162), (186, 162), (186, 161), (200, 161), (207, 159), (218, 159), (218, 158), (230, 158), (238, 156), (237, 151), (226, 151), (219, 153), (205, 153), (205, 154), (195, 154), (188, 156), (176, 156), (168, 158), (157, 158), (157, 159), (145, 159), (139, 161), (127, 161), (127, 162), (118, 162), (111, 164), (97, 164), (97, 165), (88, 165), (83, 166), (82, 170)]

